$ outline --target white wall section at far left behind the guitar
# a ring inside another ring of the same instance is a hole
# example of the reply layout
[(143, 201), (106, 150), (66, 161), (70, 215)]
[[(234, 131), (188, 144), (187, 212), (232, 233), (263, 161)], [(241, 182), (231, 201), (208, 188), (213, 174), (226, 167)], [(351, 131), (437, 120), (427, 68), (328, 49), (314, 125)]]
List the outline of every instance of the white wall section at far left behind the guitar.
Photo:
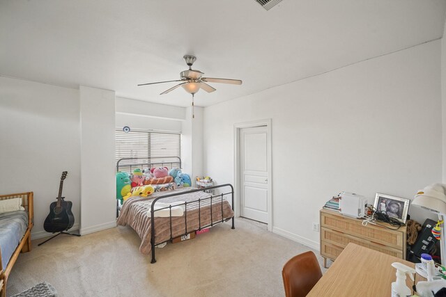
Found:
[(62, 195), (79, 224), (79, 91), (0, 77), (0, 193), (34, 192), (33, 239), (68, 171)]

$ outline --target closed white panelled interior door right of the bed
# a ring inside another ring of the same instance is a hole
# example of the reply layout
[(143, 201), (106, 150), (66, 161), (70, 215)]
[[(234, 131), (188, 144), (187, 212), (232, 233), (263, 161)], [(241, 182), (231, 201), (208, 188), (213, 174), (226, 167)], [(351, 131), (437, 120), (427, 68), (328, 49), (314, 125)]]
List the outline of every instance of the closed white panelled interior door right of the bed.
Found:
[(240, 216), (268, 223), (266, 126), (240, 129)]

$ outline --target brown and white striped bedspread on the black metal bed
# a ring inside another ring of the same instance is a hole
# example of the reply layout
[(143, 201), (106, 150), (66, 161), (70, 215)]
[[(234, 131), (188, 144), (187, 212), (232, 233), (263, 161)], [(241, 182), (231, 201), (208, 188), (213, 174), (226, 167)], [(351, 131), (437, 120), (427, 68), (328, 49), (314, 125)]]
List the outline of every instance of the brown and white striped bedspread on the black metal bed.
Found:
[[(186, 193), (187, 191), (194, 189), (195, 188), (177, 188), (174, 191), (153, 193), (148, 196), (148, 198), (129, 198), (123, 204), (121, 214), (119, 214), (118, 217), (118, 225), (129, 225), (132, 227), (139, 235), (139, 238), (141, 238), (139, 251), (144, 255), (148, 255), (151, 252), (151, 218), (147, 216), (147, 211), (150, 211), (151, 203), (153, 199), (157, 197), (185, 192), (182, 195), (162, 198), (157, 200), (157, 202), (171, 203), (175, 201), (185, 201), (188, 203), (185, 211), (186, 217), (184, 215), (172, 216), (171, 223), (170, 218), (155, 216), (155, 244), (169, 240), (171, 238), (171, 232), (172, 237), (177, 237), (186, 232), (193, 232), (194, 230), (199, 229), (199, 227), (209, 225), (211, 223), (211, 218), (213, 223), (217, 223), (222, 220), (222, 213), (225, 220), (233, 217), (231, 205), (225, 198), (223, 198), (222, 203), (222, 198), (220, 196), (214, 197), (212, 199), (212, 204), (210, 204), (210, 199), (205, 199), (211, 197), (209, 193), (201, 191)], [(201, 201), (198, 202), (198, 200)], [(155, 205), (157, 202), (155, 202)]]

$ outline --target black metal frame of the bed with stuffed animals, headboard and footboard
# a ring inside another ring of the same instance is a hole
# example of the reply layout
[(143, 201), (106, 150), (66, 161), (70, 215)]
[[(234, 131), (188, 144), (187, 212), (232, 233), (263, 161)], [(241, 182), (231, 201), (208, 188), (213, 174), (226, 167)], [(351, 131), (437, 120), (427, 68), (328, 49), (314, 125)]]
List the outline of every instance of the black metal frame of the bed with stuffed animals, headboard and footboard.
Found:
[[(171, 159), (174, 159), (174, 161), (171, 161)], [(178, 161), (177, 161), (178, 160)], [(136, 161), (136, 162), (128, 162), (128, 161)], [(130, 168), (130, 171), (132, 170), (132, 167), (143, 167), (143, 166), (148, 166), (148, 167), (153, 167), (153, 166), (166, 166), (166, 167), (170, 167), (170, 168), (174, 168), (174, 167), (178, 167), (181, 168), (181, 159), (178, 156), (165, 156), (165, 157), (153, 157), (153, 158), (146, 158), (146, 157), (137, 157), (137, 158), (121, 158), (116, 162), (116, 172), (119, 171), (120, 168)], [(174, 196), (180, 196), (180, 195), (184, 195), (187, 193), (195, 193), (195, 192), (204, 192), (204, 191), (208, 191), (208, 190), (214, 190), (216, 188), (227, 188), (230, 187), (231, 191), (227, 192), (227, 193), (221, 193), (218, 195), (214, 195), (213, 193), (209, 195), (209, 197), (207, 198), (200, 198), (199, 200), (193, 200), (193, 201), (188, 201), (188, 202), (184, 202), (183, 204), (175, 204), (174, 206), (178, 206), (178, 205), (184, 205), (185, 206), (185, 212), (184, 212), (184, 220), (185, 220), (185, 233), (181, 234), (180, 236), (185, 236), (190, 232), (187, 232), (187, 204), (191, 204), (191, 203), (195, 203), (198, 202), (199, 204), (199, 229), (198, 230), (202, 230), (206, 227), (213, 227), (213, 225), (216, 225), (218, 223), (223, 223), (227, 220), (232, 219), (232, 227), (231, 229), (236, 229), (236, 227), (234, 226), (234, 215), (231, 218), (224, 218), (223, 216), (223, 198), (226, 197), (226, 195), (231, 195), (231, 208), (232, 210), (234, 210), (234, 188), (231, 184), (221, 184), (218, 186), (210, 186), (208, 188), (199, 188), (199, 189), (194, 189), (191, 191), (184, 191), (184, 192), (180, 192), (180, 193), (173, 193), (173, 194), (167, 194), (167, 195), (162, 195), (160, 197), (157, 197), (153, 200), (152, 205), (151, 205), (151, 247), (152, 247), (152, 260), (151, 263), (155, 263), (156, 259), (155, 259), (155, 246), (159, 246), (162, 243), (166, 243), (167, 241), (171, 241), (172, 239), (174, 239), (172, 237), (172, 206), (169, 205), (169, 207), (164, 207), (161, 209), (154, 209), (155, 207), (155, 202), (157, 202), (158, 200), (164, 199), (164, 198), (170, 198), (170, 197), (174, 197)], [(220, 199), (221, 202), (221, 211), (222, 211), (222, 220), (217, 220), (214, 222), (213, 220), (213, 211), (212, 211), (212, 207), (213, 207), (213, 199)], [(205, 200), (210, 200), (210, 224), (207, 225), (201, 225), (201, 202), (205, 201)], [(168, 239), (167, 241), (162, 241), (159, 243), (155, 244), (155, 211), (161, 211), (164, 209), (169, 209), (169, 223), (170, 223), (170, 239)], [(116, 217), (118, 216), (118, 200), (116, 200)]]

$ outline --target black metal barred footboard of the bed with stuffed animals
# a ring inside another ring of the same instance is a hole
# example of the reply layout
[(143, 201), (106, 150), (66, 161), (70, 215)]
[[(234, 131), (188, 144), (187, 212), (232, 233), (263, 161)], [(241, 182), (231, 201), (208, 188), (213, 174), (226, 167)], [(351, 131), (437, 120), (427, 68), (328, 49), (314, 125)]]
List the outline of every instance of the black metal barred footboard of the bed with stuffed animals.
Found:
[[(230, 191), (228, 191), (228, 188), (230, 188)], [(232, 215), (231, 217), (225, 218), (224, 217), (224, 211), (223, 211), (223, 201), (224, 198), (227, 198), (228, 196), (231, 196), (231, 209), (232, 211), (234, 210), (234, 189), (233, 186), (231, 184), (222, 184), (219, 186), (211, 186), (208, 188), (199, 188), (196, 190), (191, 190), (191, 191), (187, 191), (187, 192), (180, 192), (180, 193), (173, 193), (173, 194), (168, 194), (168, 195), (162, 195), (160, 197), (157, 197), (153, 200), (152, 204), (151, 204), (151, 252), (152, 252), (152, 260), (151, 263), (155, 263), (156, 259), (155, 259), (155, 246), (167, 242), (167, 241), (163, 241), (163, 242), (159, 242), (159, 243), (155, 243), (155, 213), (156, 211), (162, 211), (165, 209), (168, 209), (170, 214), (172, 214), (172, 206), (169, 205), (169, 207), (164, 207), (161, 209), (155, 209), (155, 202), (165, 199), (165, 198), (171, 198), (174, 196), (180, 196), (180, 195), (184, 195), (186, 193), (196, 193), (196, 192), (204, 192), (204, 191), (208, 191), (208, 190), (213, 190), (213, 189), (219, 189), (220, 191), (226, 191), (226, 193), (221, 193), (218, 195), (214, 195), (214, 194), (210, 194), (208, 197), (206, 198), (199, 198), (198, 200), (192, 200), (192, 201), (186, 201), (181, 205), (184, 205), (185, 208), (185, 212), (184, 212), (184, 224), (185, 224), (185, 233), (181, 234), (180, 236), (183, 235), (187, 235), (188, 234), (188, 230), (187, 230), (187, 205), (188, 204), (198, 204), (198, 220), (199, 220), (199, 225), (198, 228), (196, 230), (201, 230), (203, 228), (206, 227), (212, 227), (213, 225), (216, 225), (218, 223), (223, 223), (226, 220), (232, 219), (232, 227), (231, 229), (235, 229), (236, 227), (234, 226), (234, 215)], [(221, 219), (219, 220), (213, 220), (213, 202), (215, 202), (215, 200), (219, 201), (220, 200), (220, 204), (221, 204)], [(162, 202), (162, 201), (160, 201)], [(210, 223), (201, 224), (201, 208), (202, 208), (202, 204), (208, 204), (208, 206), (210, 207)], [(178, 206), (178, 204), (176, 204), (176, 206)], [(169, 216), (170, 219), (170, 226), (172, 226), (172, 216)], [(177, 235), (178, 236), (178, 235)], [(172, 227), (170, 227), (170, 240), (173, 239), (172, 236)]]

